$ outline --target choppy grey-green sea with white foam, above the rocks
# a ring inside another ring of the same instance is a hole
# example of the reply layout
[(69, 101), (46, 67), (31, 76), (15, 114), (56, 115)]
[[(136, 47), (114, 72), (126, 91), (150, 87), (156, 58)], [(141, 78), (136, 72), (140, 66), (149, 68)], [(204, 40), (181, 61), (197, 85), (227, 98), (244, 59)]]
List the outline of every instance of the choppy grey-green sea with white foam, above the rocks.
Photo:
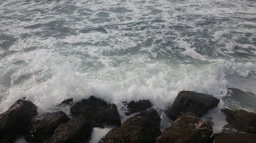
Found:
[(162, 110), (182, 90), (256, 110), (255, 1), (2, 0), (0, 19), (0, 112), (90, 95)]

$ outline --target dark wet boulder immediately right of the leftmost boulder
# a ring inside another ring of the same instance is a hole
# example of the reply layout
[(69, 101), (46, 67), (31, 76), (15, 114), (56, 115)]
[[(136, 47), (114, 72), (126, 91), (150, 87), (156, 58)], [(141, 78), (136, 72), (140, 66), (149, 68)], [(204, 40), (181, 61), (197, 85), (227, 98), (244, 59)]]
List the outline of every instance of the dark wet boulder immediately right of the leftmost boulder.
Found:
[(40, 119), (34, 119), (27, 128), (25, 139), (32, 142), (42, 142), (44, 139), (54, 134), (54, 130), (61, 123), (66, 123), (70, 119), (62, 112), (46, 113)]

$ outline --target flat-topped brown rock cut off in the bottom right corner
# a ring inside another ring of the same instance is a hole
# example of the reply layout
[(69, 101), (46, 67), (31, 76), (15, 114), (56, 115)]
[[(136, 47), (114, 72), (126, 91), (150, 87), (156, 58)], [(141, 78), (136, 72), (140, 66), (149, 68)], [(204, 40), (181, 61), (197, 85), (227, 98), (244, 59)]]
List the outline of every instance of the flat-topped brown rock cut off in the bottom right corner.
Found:
[(251, 133), (218, 133), (212, 136), (212, 143), (254, 143), (256, 135)]

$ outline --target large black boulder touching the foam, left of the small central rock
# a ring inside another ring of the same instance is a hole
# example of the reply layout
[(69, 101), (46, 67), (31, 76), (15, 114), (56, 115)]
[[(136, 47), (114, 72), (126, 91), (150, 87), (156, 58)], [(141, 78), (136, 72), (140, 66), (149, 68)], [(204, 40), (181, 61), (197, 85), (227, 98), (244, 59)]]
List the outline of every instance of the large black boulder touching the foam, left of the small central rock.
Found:
[(73, 115), (82, 114), (90, 121), (93, 127), (120, 125), (120, 117), (115, 104), (107, 104), (105, 101), (91, 96), (75, 103), (70, 112)]

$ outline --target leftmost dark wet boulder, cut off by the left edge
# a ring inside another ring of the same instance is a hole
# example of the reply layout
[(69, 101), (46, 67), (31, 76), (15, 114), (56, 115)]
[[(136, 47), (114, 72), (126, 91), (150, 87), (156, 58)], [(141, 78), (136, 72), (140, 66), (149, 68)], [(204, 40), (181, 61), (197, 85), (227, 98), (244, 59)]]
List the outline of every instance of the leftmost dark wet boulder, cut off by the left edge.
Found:
[(12, 142), (17, 135), (25, 131), (36, 115), (35, 104), (22, 99), (17, 100), (0, 115), (0, 142)]

